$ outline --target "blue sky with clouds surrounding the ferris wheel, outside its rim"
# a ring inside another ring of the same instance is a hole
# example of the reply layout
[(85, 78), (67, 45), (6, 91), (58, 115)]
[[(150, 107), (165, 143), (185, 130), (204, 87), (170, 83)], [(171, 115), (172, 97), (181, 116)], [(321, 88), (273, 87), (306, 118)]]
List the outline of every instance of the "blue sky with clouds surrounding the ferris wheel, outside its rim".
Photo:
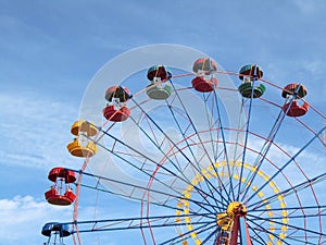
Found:
[(71, 219), (72, 208), (46, 204), (47, 174), (82, 164), (65, 149), (70, 126), (105, 62), (140, 46), (189, 46), (228, 71), (253, 62), (271, 81), (302, 81), (325, 113), (325, 13), (323, 0), (0, 0), (0, 244), (41, 244), (49, 217)]

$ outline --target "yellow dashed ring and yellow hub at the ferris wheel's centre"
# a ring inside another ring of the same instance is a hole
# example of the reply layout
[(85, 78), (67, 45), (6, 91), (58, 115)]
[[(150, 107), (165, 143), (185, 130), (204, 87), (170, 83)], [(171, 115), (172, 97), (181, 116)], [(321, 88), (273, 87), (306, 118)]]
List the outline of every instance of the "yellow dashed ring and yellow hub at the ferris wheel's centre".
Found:
[[(240, 161), (230, 161), (229, 164), (227, 164), (226, 161), (222, 162), (215, 162), (214, 166), (208, 166), (206, 168), (201, 169), (200, 173), (197, 173), (193, 179), (191, 180), (191, 184), (189, 184), (185, 189), (184, 189), (184, 195), (181, 198), (179, 198), (177, 203), (177, 208), (176, 208), (176, 216), (177, 218), (175, 219), (176, 223), (185, 222), (186, 228), (188, 230), (187, 233), (190, 234), (190, 237), (193, 240), (196, 245), (201, 244), (201, 240), (198, 236), (197, 232), (193, 230), (193, 225), (191, 224), (191, 219), (190, 219), (190, 204), (191, 204), (191, 194), (195, 189), (195, 186), (198, 186), (201, 184), (201, 182), (204, 182), (204, 180), (210, 180), (210, 179), (218, 179), (218, 183), (222, 185), (221, 180), (225, 177), (231, 177), (236, 181), (239, 181), (240, 176), (238, 173), (236, 173), (236, 169), (240, 169), (243, 166), (243, 170), (255, 173), (256, 175), (263, 180), (264, 182), (268, 182), (268, 187), (273, 191), (274, 194), (279, 194), (280, 191), (276, 186), (274, 181), (271, 181), (271, 177), (265, 174), (262, 170), (258, 170), (256, 167), (250, 166), (249, 163), (242, 164)], [(225, 170), (231, 170), (231, 174), (228, 171)], [(243, 174), (244, 175), (244, 174)], [(281, 226), (276, 228), (275, 222), (269, 221), (269, 226), (268, 230), (271, 234), (268, 235), (268, 241), (266, 241), (267, 245), (281, 245), (283, 242), (280, 240), (276, 240), (276, 237), (272, 234), (275, 233), (276, 231), (279, 231), (278, 237), (284, 240), (286, 237), (286, 232), (288, 230), (288, 213), (286, 210), (286, 203), (284, 200), (284, 196), (279, 194), (277, 196), (277, 200), (279, 203), (279, 207), (281, 208), (281, 211), (279, 213), (275, 213), (272, 211), (272, 207), (264, 197), (264, 194), (262, 191), (258, 192), (259, 187), (256, 185), (252, 185), (250, 181), (247, 181), (246, 177), (241, 177), (241, 183), (244, 184), (244, 186), (250, 186), (250, 188), (255, 192), (256, 196), (262, 200), (262, 203), (265, 205), (265, 211), (268, 216), (268, 218), (273, 218), (275, 215), (281, 216)], [(200, 188), (201, 186), (199, 186)], [(228, 205), (226, 212), (217, 213), (216, 215), (216, 223), (223, 231), (231, 231), (233, 229), (233, 218), (235, 212), (241, 212), (242, 216), (247, 215), (247, 208), (244, 205), (242, 205), (239, 201), (233, 201)], [(263, 212), (263, 211), (262, 211)], [(178, 234), (183, 237), (184, 232), (181, 230), (181, 225), (177, 226), (177, 232)], [(183, 241), (183, 245), (187, 245), (187, 238)]]

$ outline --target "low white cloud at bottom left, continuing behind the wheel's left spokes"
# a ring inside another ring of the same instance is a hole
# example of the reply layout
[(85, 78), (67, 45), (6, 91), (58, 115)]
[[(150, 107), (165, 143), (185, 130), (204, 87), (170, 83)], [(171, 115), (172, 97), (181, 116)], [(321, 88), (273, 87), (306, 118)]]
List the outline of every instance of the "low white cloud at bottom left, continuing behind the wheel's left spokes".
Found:
[[(135, 205), (135, 203), (131, 203), (131, 205)], [(138, 212), (131, 210), (126, 215), (125, 211), (122, 211), (121, 206), (108, 207), (104, 205), (97, 212), (95, 212), (95, 209), (91, 206), (79, 206), (78, 220), (112, 219), (113, 217), (133, 215), (136, 217), (138, 215)], [(133, 208), (133, 210), (137, 209)], [(48, 237), (41, 234), (41, 229), (47, 222), (71, 222), (72, 220), (73, 205), (49, 205), (47, 201), (38, 200), (29, 195), (0, 199), (0, 244), (15, 245), (22, 244), (22, 242), (25, 244), (25, 241), (28, 241), (28, 244), (42, 244), (48, 241)], [(82, 225), (80, 229), (91, 229), (91, 225)], [(83, 233), (82, 241), (91, 243), (98, 235), (100, 234)], [(103, 238), (112, 240), (105, 232), (102, 235)], [(72, 236), (65, 237), (64, 242), (65, 244), (73, 244)]]

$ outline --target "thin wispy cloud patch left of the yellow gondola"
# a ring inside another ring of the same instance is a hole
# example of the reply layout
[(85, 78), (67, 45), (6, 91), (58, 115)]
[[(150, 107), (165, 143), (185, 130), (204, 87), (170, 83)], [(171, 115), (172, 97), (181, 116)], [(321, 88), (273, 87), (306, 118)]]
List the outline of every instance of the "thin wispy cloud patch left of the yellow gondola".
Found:
[(65, 146), (77, 110), (66, 101), (36, 93), (0, 94), (1, 164), (68, 164)]

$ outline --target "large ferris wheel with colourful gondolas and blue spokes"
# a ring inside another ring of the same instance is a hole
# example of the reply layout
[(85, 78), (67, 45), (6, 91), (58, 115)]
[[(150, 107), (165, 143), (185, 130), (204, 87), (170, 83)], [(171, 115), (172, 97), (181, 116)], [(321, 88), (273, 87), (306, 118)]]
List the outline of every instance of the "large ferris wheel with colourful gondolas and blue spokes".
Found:
[(304, 82), (230, 70), (176, 45), (105, 64), (71, 128), (83, 166), (48, 175), (46, 199), (74, 213), (47, 243), (326, 244), (325, 115)]

